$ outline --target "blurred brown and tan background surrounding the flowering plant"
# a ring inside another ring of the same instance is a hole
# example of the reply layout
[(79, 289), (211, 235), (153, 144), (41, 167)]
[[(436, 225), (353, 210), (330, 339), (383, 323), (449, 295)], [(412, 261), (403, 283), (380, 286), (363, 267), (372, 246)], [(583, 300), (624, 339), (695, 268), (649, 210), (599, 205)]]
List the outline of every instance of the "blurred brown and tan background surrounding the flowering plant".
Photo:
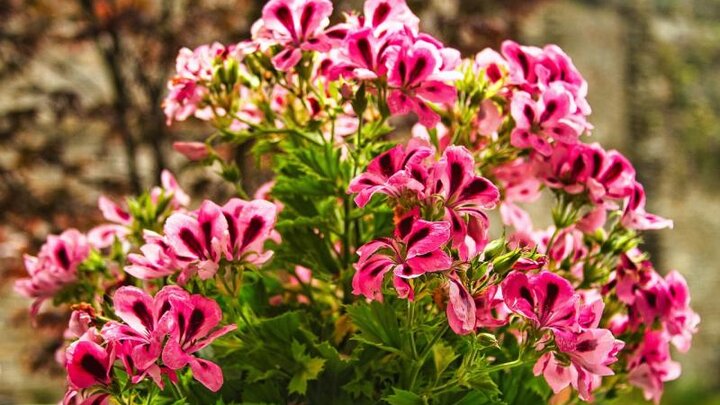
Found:
[[(334, 1), (336, 10), (361, 0)], [(647, 240), (657, 267), (680, 269), (703, 317), (666, 404), (720, 404), (720, 1), (408, 0), (425, 30), (471, 55), (505, 38), (563, 47), (590, 83), (592, 139), (631, 157), (653, 212), (674, 232)], [(0, 0), (0, 404), (51, 403), (64, 314), (31, 329), (12, 293), (23, 252), (48, 233), (101, 220), (100, 193), (121, 196), (179, 173), (195, 196), (227, 193), (185, 166), (160, 103), (182, 46), (237, 42), (261, 0)], [(241, 151), (242, 152), (242, 151)], [(247, 186), (258, 165), (237, 157)], [(623, 398), (618, 405), (640, 401)]]

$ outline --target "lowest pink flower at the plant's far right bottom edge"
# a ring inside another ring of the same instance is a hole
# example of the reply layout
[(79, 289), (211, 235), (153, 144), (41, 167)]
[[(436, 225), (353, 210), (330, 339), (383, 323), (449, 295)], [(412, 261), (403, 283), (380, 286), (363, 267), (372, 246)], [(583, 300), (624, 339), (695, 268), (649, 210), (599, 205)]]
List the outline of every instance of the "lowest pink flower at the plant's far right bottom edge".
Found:
[(645, 333), (628, 364), (628, 381), (643, 390), (645, 399), (660, 403), (666, 381), (680, 376), (680, 364), (670, 358), (670, 347), (661, 332)]

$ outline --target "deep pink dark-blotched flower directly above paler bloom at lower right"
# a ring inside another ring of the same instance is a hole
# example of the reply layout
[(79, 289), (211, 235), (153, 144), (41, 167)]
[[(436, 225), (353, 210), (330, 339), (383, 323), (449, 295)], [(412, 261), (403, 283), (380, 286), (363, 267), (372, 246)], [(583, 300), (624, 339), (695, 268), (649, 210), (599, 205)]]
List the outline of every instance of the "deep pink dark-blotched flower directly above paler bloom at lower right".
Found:
[(569, 281), (556, 274), (542, 271), (528, 276), (513, 271), (503, 281), (502, 291), (508, 308), (538, 328), (579, 328), (579, 296)]

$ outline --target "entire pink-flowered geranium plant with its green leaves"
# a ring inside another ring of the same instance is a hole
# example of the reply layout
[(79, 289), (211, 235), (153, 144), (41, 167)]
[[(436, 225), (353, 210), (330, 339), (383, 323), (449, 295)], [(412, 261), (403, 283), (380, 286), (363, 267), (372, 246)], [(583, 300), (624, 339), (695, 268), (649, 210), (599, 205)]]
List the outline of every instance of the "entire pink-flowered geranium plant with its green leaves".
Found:
[[(559, 403), (631, 385), (658, 402), (699, 316), (641, 250), (672, 221), (625, 156), (582, 142), (570, 57), (506, 41), (462, 59), (405, 0), (332, 16), (270, 0), (250, 39), (180, 51), (167, 122), (214, 132), (174, 148), (227, 202), (193, 209), (165, 172), (26, 257), (33, 313), (72, 310), (65, 403)], [(252, 200), (248, 151), (275, 176)]]

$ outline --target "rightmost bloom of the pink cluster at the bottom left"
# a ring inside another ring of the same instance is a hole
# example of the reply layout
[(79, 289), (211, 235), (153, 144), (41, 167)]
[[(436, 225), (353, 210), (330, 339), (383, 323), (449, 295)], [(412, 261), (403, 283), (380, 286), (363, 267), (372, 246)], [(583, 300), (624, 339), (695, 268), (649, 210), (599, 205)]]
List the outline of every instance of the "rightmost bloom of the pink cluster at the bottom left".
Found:
[(190, 366), (193, 378), (213, 392), (223, 384), (220, 367), (208, 360), (193, 356), (210, 345), (215, 339), (236, 329), (236, 325), (217, 328), (222, 320), (220, 306), (202, 295), (190, 295), (185, 291), (172, 294), (170, 309), (169, 339), (162, 352), (162, 361), (171, 370)]

